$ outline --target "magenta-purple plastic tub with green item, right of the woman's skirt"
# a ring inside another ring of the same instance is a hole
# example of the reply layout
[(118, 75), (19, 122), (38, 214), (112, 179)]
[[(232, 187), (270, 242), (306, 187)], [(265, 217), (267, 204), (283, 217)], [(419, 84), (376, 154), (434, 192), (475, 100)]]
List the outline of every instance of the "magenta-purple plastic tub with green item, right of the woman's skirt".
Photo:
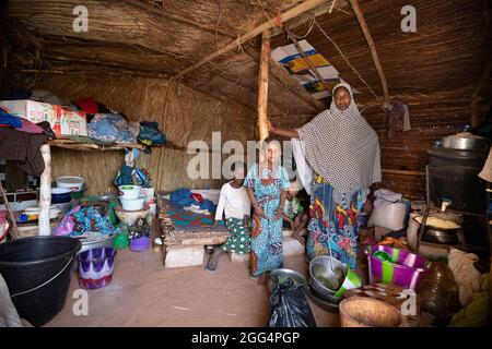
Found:
[[(373, 255), (376, 251), (388, 253), (393, 263), (376, 258)], [(387, 245), (367, 246), (365, 253), (371, 284), (394, 284), (414, 291), (419, 289), (419, 284), (427, 269), (427, 261), (423, 256)]]

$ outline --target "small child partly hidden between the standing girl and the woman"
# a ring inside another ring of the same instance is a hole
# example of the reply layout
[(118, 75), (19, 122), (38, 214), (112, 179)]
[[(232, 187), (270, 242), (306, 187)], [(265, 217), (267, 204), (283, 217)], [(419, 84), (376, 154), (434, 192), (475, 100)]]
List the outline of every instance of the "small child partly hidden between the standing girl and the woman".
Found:
[(292, 238), (295, 238), (304, 244), (301, 231), (307, 226), (309, 216), (304, 212), (301, 201), (297, 198), (298, 186), (295, 179), (291, 180), (291, 186), (286, 192), (285, 206), (283, 208), (284, 228), (292, 230)]

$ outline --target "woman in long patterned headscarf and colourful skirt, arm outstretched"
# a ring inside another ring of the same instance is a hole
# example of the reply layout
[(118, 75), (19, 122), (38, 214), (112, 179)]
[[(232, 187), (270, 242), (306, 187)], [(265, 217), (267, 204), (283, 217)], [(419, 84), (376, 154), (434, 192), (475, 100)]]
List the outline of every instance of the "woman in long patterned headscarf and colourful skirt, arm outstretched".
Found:
[(380, 155), (376, 132), (359, 112), (350, 85), (332, 91), (330, 108), (296, 130), (269, 123), (273, 134), (298, 139), (314, 171), (307, 255), (329, 254), (355, 268), (358, 214), (368, 186), (379, 182)]

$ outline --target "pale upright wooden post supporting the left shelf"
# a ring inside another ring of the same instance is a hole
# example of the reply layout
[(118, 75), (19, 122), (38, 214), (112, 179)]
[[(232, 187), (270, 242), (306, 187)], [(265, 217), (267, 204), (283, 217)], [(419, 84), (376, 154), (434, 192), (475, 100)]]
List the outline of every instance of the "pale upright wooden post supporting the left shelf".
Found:
[(40, 177), (38, 234), (50, 236), (49, 206), (51, 205), (51, 153), (48, 144), (40, 146), (45, 170)]

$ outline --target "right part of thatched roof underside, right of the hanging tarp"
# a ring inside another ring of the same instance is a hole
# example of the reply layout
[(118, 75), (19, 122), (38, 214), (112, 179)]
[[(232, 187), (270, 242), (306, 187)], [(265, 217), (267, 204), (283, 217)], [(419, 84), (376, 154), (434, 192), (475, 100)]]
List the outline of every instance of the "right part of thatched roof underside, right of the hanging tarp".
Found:
[[(468, 95), (461, 95), (462, 97), (471, 95), (472, 86), (479, 81), (492, 56), (492, 9), (487, 1), (360, 2), (390, 95), (411, 94), (418, 98), (419, 94), (447, 93), (459, 88), (469, 89)], [(403, 33), (400, 29), (400, 21), (403, 19), (400, 10), (407, 4), (417, 10), (417, 33)], [(321, 15), (316, 21), (376, 94), (383, 96), (361, 27), (350, 7), (347, 10)], [(302, 35), (307, 26), (306, 23), (294, 33)], [(374, 98), (316, 25), (306, 39), (332, 62), (344, 80), (362, 93), (362, 100)], [(283, 35), (278, 36), (272, 46), (286, 44), (289, 40)]]

